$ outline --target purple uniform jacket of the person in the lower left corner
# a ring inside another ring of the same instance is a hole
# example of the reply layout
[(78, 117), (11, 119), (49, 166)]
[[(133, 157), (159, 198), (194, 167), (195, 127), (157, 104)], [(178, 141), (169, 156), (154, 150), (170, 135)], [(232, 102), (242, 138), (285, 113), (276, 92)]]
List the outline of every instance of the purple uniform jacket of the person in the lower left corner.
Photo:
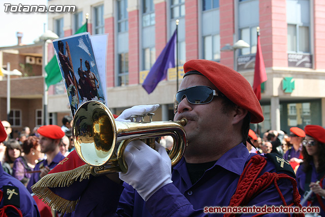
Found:
[[(39, 210), (37, 208), (35, 200), (30, 196), (29, 192), (26, 190), (26, 187), (16, 178), (12, 177), (8, 173), (4, 172), (0, 163), (0, 190), (3, 191), (3, 199), (0, 201), (0, 208), (4, 207), (5, 197), (8, 196), (8, 192), (4, 192), (4, 185), (10, 185), (17, 187), (19, 189), (19, 200), (20, 208), (23, 216), (27, 217), (38, 217), (40, 216)], [(7, 215), (14, 217), (19, 216), (16, 211), (8, 209)]]

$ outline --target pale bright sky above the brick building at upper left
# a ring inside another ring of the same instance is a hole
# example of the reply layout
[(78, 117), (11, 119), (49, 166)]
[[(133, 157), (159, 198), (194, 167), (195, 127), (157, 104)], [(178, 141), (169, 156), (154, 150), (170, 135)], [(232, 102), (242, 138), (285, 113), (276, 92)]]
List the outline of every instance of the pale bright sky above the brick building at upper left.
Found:
[(0, 0), (1, 34), (0, 47), (17, 45), (16, 32), (22, 32), (22, 43), (32, 44), (44, 33), (44, 23), (47, 29), (46, 13), (5, 12), (4, 4), (11, 5), (47, 5), (47, 0)]

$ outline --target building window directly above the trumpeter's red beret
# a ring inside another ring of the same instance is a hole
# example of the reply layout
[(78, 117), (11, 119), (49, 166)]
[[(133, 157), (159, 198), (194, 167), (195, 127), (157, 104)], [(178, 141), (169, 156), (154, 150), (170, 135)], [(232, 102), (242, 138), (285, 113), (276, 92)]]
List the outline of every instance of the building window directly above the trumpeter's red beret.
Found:
[(220, 60), (220, 35), (203, 37), (204, 59)]

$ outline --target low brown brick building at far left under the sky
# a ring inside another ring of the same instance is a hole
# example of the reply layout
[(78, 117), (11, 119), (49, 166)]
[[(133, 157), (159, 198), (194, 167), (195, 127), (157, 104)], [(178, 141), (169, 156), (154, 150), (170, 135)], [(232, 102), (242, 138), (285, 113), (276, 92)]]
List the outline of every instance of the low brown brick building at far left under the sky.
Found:
[[(21, 76), (10, 76), (10, 115), (13, 138), (18, 137), (23, 127), (31, 130), (42, 126), (42, 97), (44, 91), (44, 78), (42, 76), (42, 44), (18, 44), (10, 47), (0, 47), (0, 66), (10, 71), (18, 70)], [(1, 76), (0, 76), (1, 77)], [(7, 84), (8, 76), (0, 79), (0, 119), (7, 120)]]

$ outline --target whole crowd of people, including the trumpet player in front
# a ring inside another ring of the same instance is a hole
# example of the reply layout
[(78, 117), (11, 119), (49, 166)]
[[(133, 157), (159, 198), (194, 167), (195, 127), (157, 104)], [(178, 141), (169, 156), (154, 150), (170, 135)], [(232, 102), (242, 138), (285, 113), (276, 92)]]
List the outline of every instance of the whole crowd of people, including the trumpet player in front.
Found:
[[(17, 188), (25, 188), (21, 192), (34, 192), (64, 216), (207, 216), (212, 213), (205, 207), (264, 205), (317, 206), (325, 216), (325, 129), (308, 125), (256, 135), (249, 124), (262, 122), (264, 116), (241, 74), (214, 61), (194, 59), (184, 64), (184, 73), (174, 120), (187, 119), (187, 146), (173, 168), (167, 138), (165, 147), (156, 143), (155, 150), (136, 140), (125, 148), (126, 172), (92, 176), (89, 165), (73, 151), (73, 120), (64, 117), (62, 127), (42, 126), (37, 135), (22, 141), (6, 136), (0, 146), (2, 170), (7, 168), (20, 180)], [(132, 121), (132, 114), (157, 107), (129, 108), (118, 120)], [(2, 122), (9, 135), (7, 124)], [(12, 188), (7, 194), (13, 192)], [(306, 202), (300, 204), (300, 198)], [(36, 207), (35, 201), (30, 204)], [(26, 216), (39, 216), (29, 211), (34, 214)]]

